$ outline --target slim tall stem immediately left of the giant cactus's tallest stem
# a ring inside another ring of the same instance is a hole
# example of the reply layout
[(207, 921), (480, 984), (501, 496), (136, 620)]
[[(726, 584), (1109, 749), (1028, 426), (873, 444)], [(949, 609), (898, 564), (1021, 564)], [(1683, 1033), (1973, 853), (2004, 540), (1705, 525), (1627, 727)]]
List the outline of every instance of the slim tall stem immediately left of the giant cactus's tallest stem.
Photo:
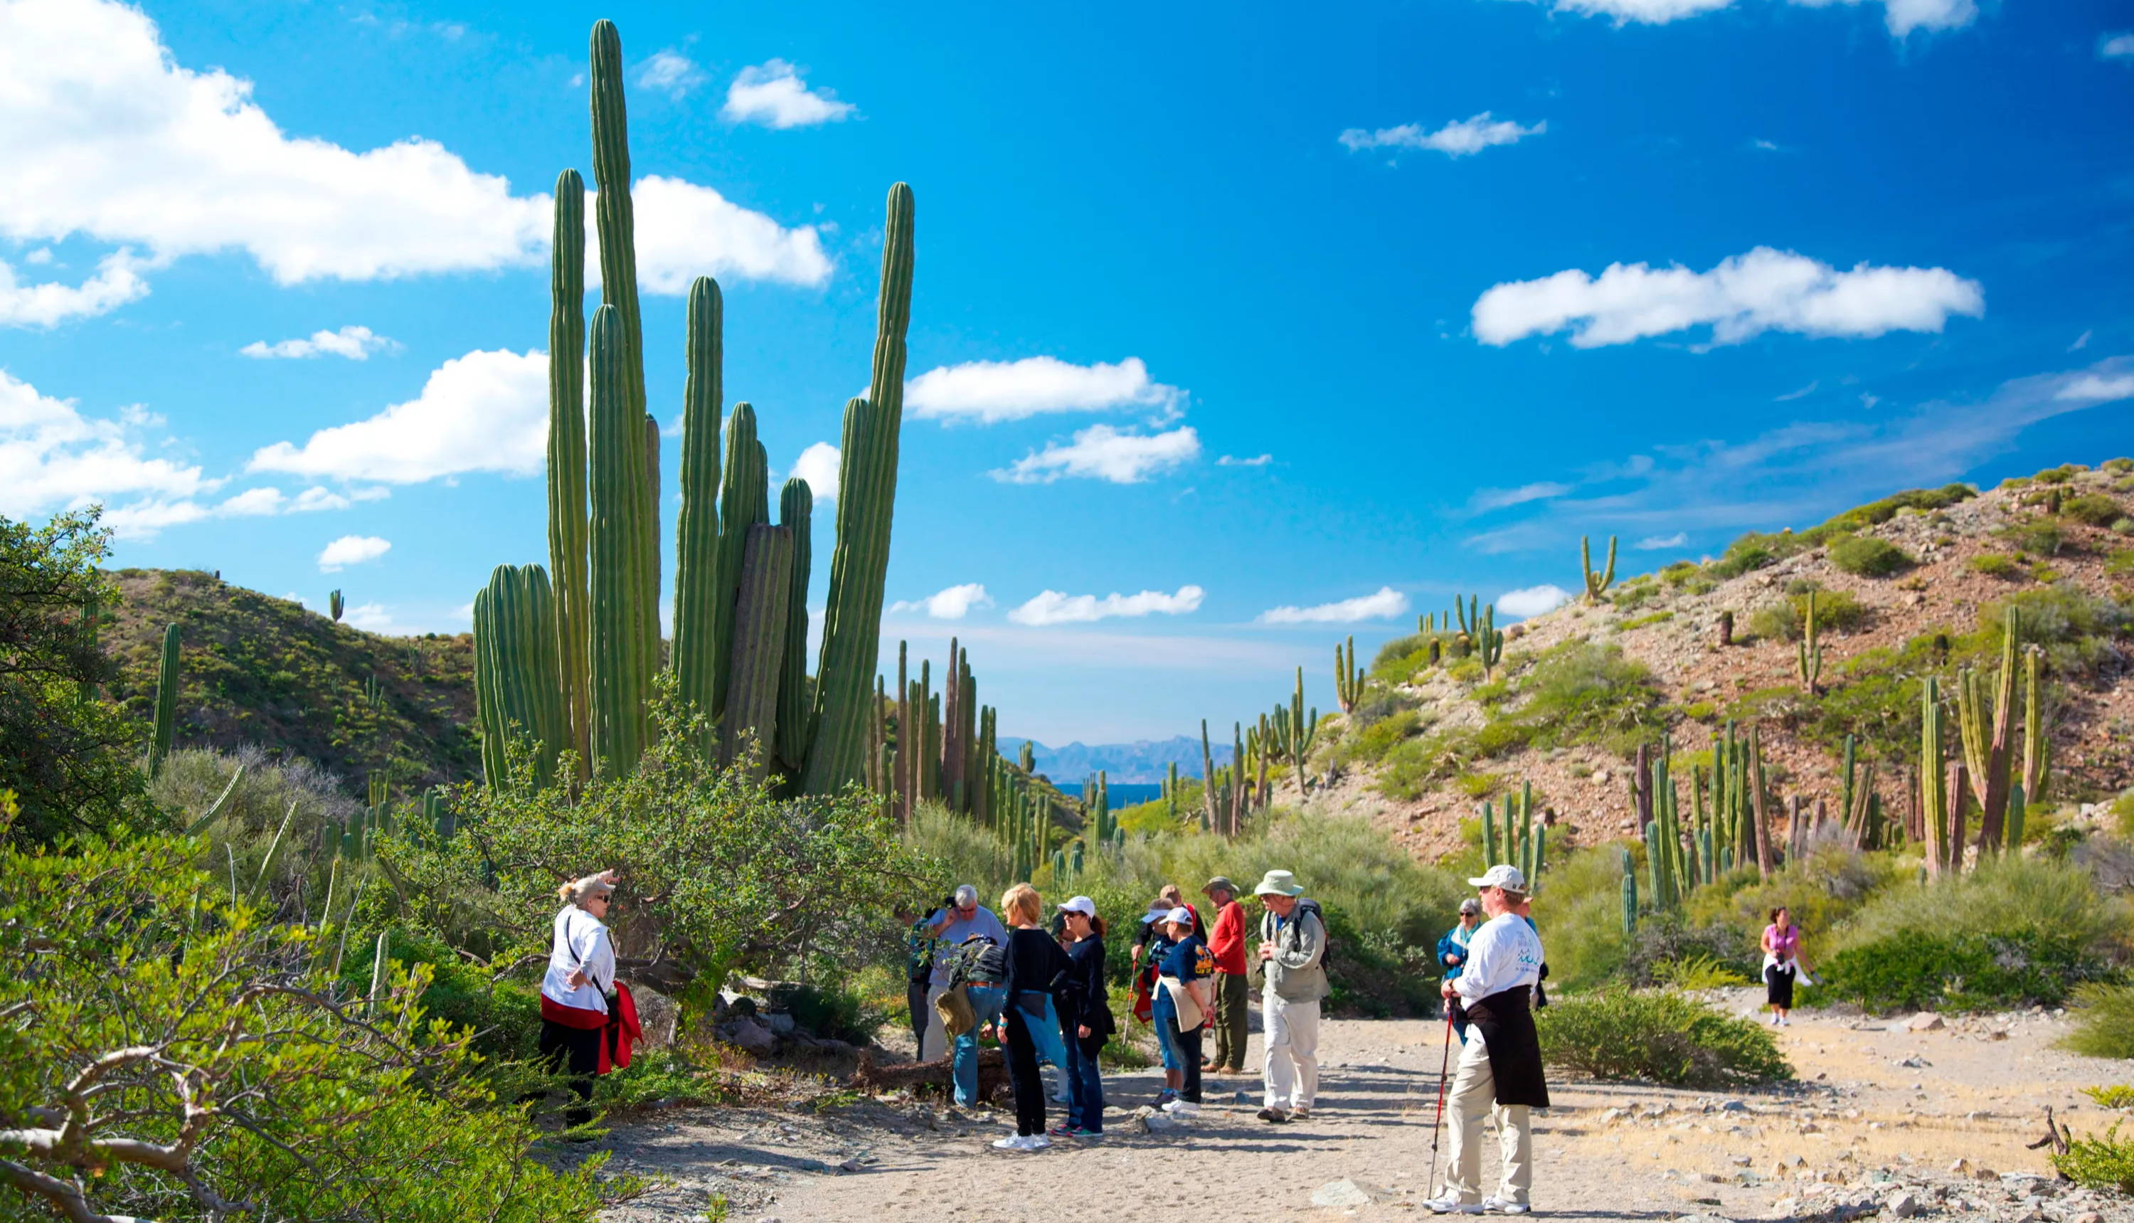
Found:
[(585, 181), (563, 171), (548, 254), (548, 570), (568, 747), (578, 753), (580, 779), (593, 766), (585, 463)]

